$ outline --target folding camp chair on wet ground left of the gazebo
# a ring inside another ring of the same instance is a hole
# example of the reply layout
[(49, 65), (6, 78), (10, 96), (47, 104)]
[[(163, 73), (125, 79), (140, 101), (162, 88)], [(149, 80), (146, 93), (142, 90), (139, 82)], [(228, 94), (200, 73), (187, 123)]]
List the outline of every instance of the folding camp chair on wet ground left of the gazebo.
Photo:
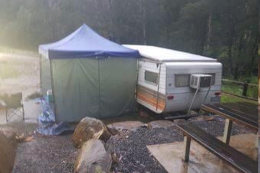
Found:
[(8, 122), (12, 116), (21, 117), (24, 121), (23, 94), (5, 95), (3, 100), (5, 102), (6, 122)]

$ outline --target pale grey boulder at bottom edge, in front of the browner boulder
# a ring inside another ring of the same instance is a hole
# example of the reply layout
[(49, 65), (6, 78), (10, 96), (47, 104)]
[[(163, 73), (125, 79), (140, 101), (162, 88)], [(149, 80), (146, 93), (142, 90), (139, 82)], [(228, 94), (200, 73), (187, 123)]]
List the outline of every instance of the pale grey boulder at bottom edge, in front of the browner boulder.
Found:
[(74, 165), (74, 173), (108, 173), (112, 158), (102, 141), (91, 139), (83, 144)]

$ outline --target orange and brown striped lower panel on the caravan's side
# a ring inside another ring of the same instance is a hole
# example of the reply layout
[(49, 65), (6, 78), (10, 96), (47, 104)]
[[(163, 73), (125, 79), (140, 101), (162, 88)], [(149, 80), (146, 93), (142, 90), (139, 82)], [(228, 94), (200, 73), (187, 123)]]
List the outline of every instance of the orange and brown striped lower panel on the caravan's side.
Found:
[[(156, 106), (157, 106), (157, 92), (153, 91), (149, 88), (138, 85), (137, 98), (142, 100), (143, 102), (151, 105), (154, 108), (156, 108)], [(165, 104), (166, 104), (165, 95), (159, 93), (158, 109), (164, 110)]]

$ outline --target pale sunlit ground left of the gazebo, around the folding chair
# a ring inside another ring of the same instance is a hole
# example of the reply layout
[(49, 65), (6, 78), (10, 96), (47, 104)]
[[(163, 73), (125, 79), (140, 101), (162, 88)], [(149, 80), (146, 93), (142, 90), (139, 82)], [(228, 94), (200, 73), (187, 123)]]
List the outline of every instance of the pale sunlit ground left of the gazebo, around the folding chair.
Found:
[[(40, 91), (40, 68), (36, 53), (0, 53), (0, 96), (23, 93), (26, 122), (36, 122), (39, 105), (26, 99), (28, 95)], [(13, 117), (11, 122), (21, 122)], [(0, 110), (0, 124), (5, 124), (5, 111)]]

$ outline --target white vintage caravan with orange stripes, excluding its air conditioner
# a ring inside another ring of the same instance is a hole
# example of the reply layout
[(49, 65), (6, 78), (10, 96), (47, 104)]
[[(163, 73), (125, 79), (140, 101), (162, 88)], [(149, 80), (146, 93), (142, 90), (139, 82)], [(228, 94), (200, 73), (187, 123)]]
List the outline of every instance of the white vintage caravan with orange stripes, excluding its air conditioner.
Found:
[[(156, 113), (189, 109), (195, 91), (189, 87), (191, 74), (212, 75), (207, 103), (220, 102), (222, 64), (213, 58), (155, 46), (124, 45), (139, 51), (137, 102)], [(208, 92), (200, 88), (192, 109), (199, 109)]]

